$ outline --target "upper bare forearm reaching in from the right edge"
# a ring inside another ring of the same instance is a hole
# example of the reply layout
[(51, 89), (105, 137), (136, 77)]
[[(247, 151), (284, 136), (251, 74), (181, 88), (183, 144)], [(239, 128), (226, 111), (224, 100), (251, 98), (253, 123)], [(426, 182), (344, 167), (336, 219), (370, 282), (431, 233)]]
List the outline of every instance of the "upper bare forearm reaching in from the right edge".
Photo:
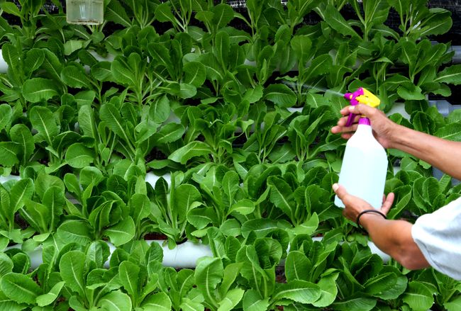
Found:
[(389, 147), (412, 154), (455, 179), (461, 179), (461, 142), (443, 140), (399, 125)]

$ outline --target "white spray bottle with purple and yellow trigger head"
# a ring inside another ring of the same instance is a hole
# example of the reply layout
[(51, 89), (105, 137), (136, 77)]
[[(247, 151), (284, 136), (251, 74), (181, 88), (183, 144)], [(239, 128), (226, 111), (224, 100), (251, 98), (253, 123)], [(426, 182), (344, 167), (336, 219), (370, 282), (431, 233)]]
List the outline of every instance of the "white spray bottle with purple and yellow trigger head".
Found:
[[(371, 107), (379, 106), (379, 98), (364, 88), (344, 95), (352, 106), (365, 103)], [(355, 118), (350, 114), (346, 126), (352, 125)], [(381, 208), (384, 184), (387, 174), (387, 154), (374, 138), (369, 118), (362, 116), (357, 130), (346, 144), (343, 164), (338, 183), (352, 196), (367, 201), (373, 208)], [(335, 205), (344, 208), (343, 201), (335, 196)]]

